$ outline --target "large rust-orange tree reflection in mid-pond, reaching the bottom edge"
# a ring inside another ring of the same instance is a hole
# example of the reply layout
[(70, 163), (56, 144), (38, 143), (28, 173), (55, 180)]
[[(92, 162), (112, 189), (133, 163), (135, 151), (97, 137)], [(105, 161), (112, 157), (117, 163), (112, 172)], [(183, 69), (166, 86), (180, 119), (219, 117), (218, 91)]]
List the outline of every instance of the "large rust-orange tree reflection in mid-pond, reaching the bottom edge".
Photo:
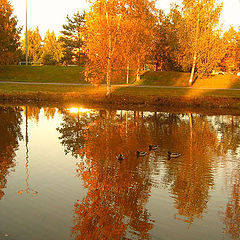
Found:
[[(97, 119), (85, 133), (79, 154), (85, 154), (86, 160), (78, 173), (88, 194), (74, 207), (75, 239), (120, 239), (129, 229), (149, 239), (153, 224), (143, 206), (151, 190), (152, 170), (147, 157), (136, 158), (136, 150), (146, 150), (151, 138), (141, 121), (127, 124)], [(116, 159), (119, 153), (127, 156), (122, 163)]]

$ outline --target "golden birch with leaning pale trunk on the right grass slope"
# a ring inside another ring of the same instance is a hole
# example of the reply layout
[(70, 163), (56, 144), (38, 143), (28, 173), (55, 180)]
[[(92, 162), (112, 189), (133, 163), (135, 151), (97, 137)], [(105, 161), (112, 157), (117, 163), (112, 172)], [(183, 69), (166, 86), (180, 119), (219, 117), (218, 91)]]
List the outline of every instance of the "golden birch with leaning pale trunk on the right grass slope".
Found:
[(191, 66), (189, 84), (193, 83), (195, 69), (199, 73), (211, 72), (209, 63), (219, 57), (219, 34), (216, 27), (222, 4), (216, 0), (183, 0), (182, 47), (185, 60)]

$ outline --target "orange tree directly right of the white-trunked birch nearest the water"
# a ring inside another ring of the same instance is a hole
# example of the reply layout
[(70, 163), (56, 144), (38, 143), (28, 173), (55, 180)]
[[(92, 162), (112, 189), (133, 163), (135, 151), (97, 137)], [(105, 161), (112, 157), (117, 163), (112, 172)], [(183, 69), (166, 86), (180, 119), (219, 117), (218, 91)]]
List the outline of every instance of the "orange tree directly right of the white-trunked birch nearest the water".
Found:
[(124, 1), (116, 59), (127, 68), (127, 76), (129, 65), (135, 70), (136, 81), (151, 53), (155, 22), (155, 1)]

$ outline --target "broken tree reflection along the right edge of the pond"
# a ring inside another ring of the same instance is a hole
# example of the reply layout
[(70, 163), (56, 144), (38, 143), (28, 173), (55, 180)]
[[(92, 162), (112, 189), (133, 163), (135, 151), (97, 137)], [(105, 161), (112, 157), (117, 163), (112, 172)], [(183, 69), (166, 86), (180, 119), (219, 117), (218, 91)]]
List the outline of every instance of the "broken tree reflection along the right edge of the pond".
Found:
[[(221, 154), (229, 154), (231, 152), (231, 167), (226, 174), (230, 177), (229, 187), (231, 193), (226, 204), (224, 219), (225, 224), (224, 232), (229, 234), (232, 239), (240, 238), (240, 164), (239, 146), (240, 146), (240, 128), (239, 116), (215, 116), (214, 123), (216, 131), (219, 134), (221, 144), (219, 144), (219, 151)], [(223, 162), (223, 166), (227, 168), (229, 163)]]

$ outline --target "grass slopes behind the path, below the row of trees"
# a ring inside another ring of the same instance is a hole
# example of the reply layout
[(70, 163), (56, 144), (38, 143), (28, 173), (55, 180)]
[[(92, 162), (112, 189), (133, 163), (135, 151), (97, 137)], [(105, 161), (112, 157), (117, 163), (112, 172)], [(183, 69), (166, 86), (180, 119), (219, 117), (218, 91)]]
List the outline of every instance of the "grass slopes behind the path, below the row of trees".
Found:
[[(189, 76), (190, 73), (183, 72), (148, 71), (134, 85), (187, 87)], [(78, 66), (0, 66), (1, 81), (87, 83), (84, 79), (84, 68)], [(121, 84), (124, 81), (115, 80), (114, 83)], [(240, 88), (240, 77), (226, 74), (198, 78), (193, 86), (199, 88)]]

